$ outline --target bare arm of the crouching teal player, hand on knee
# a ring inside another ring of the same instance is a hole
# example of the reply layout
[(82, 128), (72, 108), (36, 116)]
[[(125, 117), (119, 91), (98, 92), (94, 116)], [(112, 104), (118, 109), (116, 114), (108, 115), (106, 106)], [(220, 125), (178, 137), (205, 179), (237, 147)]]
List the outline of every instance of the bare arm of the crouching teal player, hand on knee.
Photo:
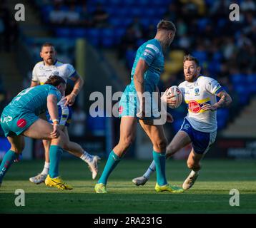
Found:
[(56, 95), (50, 94), (47, 97), (47, 109), (51, 117), (52, 122), (54, 123), (54, 130), (51, 133), (52, 138), (57, 138), (59, 136), (59, 115), (58, 115), (58, 106), (57, 106)]

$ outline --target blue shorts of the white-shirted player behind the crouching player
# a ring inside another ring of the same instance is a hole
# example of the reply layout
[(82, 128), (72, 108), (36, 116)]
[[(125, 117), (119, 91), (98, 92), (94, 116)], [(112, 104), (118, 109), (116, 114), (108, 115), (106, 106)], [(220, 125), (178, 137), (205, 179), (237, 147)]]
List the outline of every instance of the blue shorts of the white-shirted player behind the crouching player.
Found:
[[(72, 108), (69, 105), (58, 105), (59, 125), (69, 127), (69, 124), (71, 123), (72, 113)], [(48, 122), (52, 124), (48, 110), (46, 110), (46, 118)]]

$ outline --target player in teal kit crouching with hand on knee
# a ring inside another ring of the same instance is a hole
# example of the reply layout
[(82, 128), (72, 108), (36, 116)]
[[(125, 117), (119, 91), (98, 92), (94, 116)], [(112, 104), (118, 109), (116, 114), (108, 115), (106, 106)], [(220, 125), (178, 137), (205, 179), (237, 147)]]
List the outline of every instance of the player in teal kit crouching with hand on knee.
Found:
[[(45, 184), (61, 190), (72, 190), (59, 177), (59, 160), (63, 149), (67, 148), (67, 136), (62, 132), (58, 121), (57, 103), (64, 95), (66, 82), (59, 76), (51, 76), (43, 86), (22, 90), (11, 100), (1, 114), (1, 128), (11, 143), (0, 165), (0, 185), (11, 164), (19, 159), (24, 150), (24, 136), (49, 140), (49, 175)], [(53, 125), (38, 117), (48, 109)]]

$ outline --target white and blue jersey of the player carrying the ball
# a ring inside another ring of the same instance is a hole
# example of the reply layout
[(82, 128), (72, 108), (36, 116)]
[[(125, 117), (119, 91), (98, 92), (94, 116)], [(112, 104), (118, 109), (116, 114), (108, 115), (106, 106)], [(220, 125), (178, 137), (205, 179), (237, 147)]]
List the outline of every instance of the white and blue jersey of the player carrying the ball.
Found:
[(196, 81), (184, 81), (179, 84), (185, 103), (187, 103), (187, 120), (195, 130), (212, 133), (217, 130), (216, 111), (202, 110), (202, 105), (216, 103), (216, 95), (223, 90), (213, 78), (199, 76)]

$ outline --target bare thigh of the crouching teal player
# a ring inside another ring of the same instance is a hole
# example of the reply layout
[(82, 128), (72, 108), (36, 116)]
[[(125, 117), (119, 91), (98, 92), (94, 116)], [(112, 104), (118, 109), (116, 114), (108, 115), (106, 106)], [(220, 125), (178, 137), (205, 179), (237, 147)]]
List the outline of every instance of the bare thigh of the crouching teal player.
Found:
[(50, 123), (39, 118), (24, 131), (23, 135), (39, 140), (51, 140), (51, 133), (53, 130), (54, 128)]

